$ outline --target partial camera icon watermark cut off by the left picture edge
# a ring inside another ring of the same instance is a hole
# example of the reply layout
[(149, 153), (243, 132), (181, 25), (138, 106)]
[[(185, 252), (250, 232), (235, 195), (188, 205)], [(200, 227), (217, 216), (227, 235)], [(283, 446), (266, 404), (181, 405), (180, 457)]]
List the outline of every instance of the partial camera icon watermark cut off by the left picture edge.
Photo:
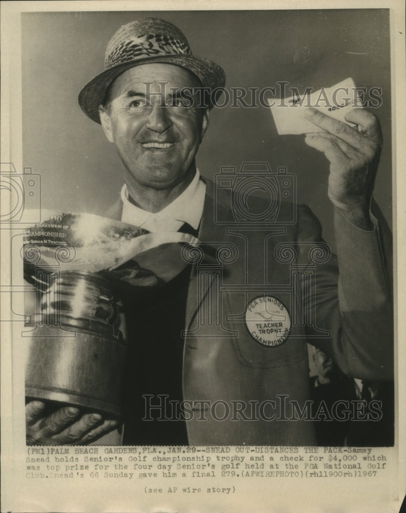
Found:
[(0, 163), (0, 192), (0, 228), (40, 221), (41, 176), (32, 168), (17, 173), (13, 163)]

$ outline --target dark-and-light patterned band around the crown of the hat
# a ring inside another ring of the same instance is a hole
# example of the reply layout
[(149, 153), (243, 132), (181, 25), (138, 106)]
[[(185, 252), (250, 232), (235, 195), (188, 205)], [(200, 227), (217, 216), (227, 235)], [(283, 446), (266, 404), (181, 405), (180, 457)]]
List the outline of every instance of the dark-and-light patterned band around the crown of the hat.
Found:
[(106, 55), (104, 69), (135, 61), (142, 55), (151, 57), (179, 53), (191, 54), (189, 46), (164, 34), (143, 34), (114, 47), (109, 55)]

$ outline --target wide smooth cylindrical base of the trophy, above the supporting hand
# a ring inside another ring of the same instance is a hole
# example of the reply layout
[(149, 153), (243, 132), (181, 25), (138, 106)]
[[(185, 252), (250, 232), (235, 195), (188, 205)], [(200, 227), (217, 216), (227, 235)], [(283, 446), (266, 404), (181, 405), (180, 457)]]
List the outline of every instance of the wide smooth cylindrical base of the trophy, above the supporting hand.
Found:
[(117, 339), (78, 329), (33, 327), (26, 363), (26, 397), (119, 418), (126, 346)]

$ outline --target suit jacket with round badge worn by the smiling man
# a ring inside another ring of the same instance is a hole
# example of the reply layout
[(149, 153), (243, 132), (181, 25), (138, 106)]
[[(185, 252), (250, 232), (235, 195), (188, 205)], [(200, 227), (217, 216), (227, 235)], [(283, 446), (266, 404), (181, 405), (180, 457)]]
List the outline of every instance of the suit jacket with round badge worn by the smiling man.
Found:
[[(255, 229), (236, 224), (230, 195), (205, 181), (199, 239), (228, 249), (218, 252), (217, 266), (196, 262), (191, 273), (183, 396), (210, 403), (194, 405), (189, 444), (315, 444), (312, 423), (295, 415), (310, 398), (306, 342), (332, 354), (346, 374), (392, 377), (390, 233), (376, 210), (371, 232), (336, 211), (336, 257), (307, 207), (285, 223), (290, 210), (281, 204), (277, 222)], [(121, 219), (121, 210), (119, 201), (104, 215)], [(247, 304), (266, 294), (286, 306), (292, 324), (274, 347), (254, 340), (244, 318)], [(210, 405), (218, 401), (213, 417)]]

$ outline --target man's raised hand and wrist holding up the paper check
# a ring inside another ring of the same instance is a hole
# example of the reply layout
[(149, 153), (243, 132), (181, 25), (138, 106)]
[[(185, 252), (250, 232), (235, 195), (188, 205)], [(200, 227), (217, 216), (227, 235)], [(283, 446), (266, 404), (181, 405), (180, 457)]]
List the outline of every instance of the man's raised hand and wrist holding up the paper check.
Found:
[(306, 134), (305, 143), (330, 161), (330, 200), (353, 224), (371, 230), (369, 206), (382, 146), (377, 118), (364, 109), (352, 110), (346, 120), (357, 130), (313, 108), (305, 109), (305, 116), (327, 130)]

